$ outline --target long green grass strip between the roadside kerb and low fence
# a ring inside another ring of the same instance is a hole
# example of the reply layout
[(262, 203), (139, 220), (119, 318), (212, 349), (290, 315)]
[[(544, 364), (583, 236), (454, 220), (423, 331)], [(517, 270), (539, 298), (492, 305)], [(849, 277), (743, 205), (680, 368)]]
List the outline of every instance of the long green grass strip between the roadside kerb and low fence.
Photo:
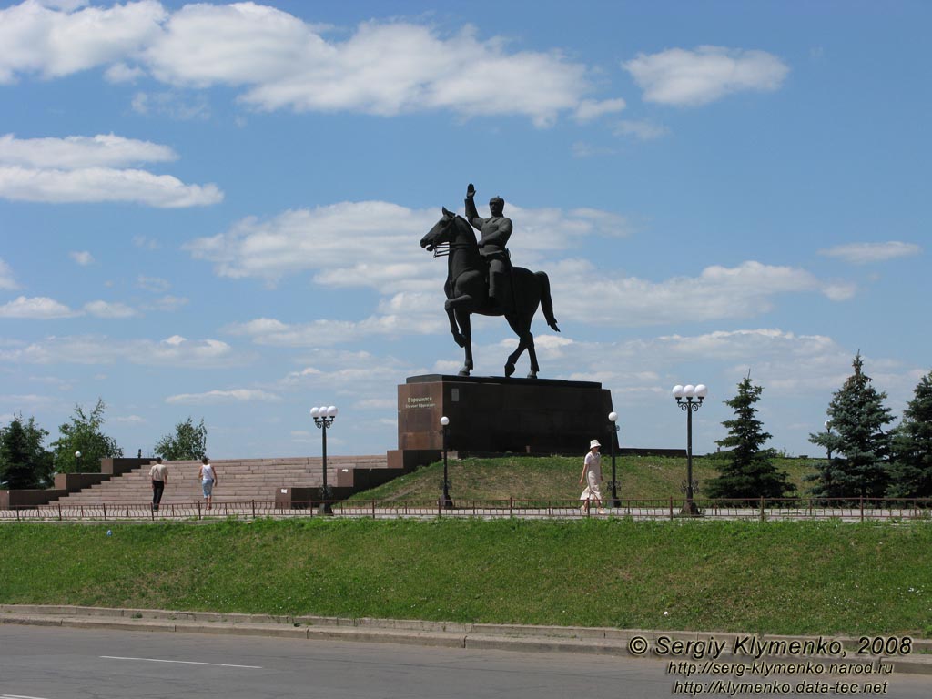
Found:
[(5, 604), (932, 635), (922, 523), (8, 523), (0, 550)]

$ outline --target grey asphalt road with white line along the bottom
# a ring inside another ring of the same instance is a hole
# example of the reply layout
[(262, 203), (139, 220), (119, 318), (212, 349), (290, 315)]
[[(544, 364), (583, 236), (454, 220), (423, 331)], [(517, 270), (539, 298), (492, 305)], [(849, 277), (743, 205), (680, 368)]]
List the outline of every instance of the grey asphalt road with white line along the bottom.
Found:
[[(597, 655), (0, 625), (0, 699), (652, 699), (689, 696), (696, 685), (685, 682), (706, 686), (714, 679), (668, 675), (666, 665), (656, 660)], [(785, 679), (794, 686), (803, 680), (830, 681), (835, 689), (808, 696), (932, 695), (932, 676), (895, 674), (883, 678), (885, 692), (867, 694), (838, 692), (840, 678)]]

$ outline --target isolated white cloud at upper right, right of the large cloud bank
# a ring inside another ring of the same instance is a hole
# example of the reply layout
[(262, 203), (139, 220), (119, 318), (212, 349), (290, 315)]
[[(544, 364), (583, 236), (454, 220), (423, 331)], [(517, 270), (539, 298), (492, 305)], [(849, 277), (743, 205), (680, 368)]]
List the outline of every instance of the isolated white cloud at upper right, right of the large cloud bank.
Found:
[(744, 90), (779, 89), (786, 63), (766, 51), (701, 46), (640, 53), (623, 67), (644, 90), (645, 102), (698, 106)]

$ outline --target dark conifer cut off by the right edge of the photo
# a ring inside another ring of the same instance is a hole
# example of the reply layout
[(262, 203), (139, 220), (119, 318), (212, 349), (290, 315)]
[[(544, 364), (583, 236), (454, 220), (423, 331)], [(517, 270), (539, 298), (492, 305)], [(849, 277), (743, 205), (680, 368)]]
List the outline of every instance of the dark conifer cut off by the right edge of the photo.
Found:
[(932, 498), (932, 372), (922, 377), (893, 432), (892, 498)]

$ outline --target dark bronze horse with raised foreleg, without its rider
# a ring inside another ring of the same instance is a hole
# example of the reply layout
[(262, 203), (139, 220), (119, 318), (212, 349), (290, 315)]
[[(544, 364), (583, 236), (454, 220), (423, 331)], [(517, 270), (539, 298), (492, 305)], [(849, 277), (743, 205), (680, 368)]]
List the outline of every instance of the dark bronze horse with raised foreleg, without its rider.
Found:
[(518, 346), (508, 355), (505, 376), (514, 374), (514, 363), (528, 350), (530, 372), (528, 378), (537, 378), (541, 367), (537, 363), (534, 336), (530, 323), (540, 306), (547, 324), (557, 333), (554, 302), (550, 297), (550, 280), (544, 272), (532, 272), (524, 267), (512, 267), (512, 303), (502, 308), (488, 296), (488, 264), (479, 253), (473, 226), (462, 216), (444, 209), (441, 218), (430, 232), (420, 240), (420, 246), (434, 257), (446, 256), (444, 309), (450, 320), (453, 339), (466, 351), (466, 362), (459, 370), (460, 377), (468, 377), (473, 370), (473, 330), (470, 315), (504, 316), (518, 336)]

